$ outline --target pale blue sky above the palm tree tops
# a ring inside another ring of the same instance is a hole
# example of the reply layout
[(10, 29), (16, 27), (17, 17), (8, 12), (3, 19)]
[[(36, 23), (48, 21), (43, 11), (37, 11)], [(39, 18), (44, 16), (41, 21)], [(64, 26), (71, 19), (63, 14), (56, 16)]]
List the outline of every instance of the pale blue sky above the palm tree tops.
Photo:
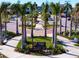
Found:
[[(18, 0), (0, 0), (0, 3), (1, 2), (11, 2), (11, 3), (17, 3)], [(38, 5), (41, 5), (42, 2), (46, 2), (46, 0), (20, 0), (20, 3), (26, 3), (26, 2), (36, 2)], [(76, 3), (79, 2), (79, 0), (47, 0), (49, 3), (50, 2), (54, 2), (54, 3), (57, 3), (57, 2), (60, 2), (61, 4), (64, 4), (66, 1), (68, 1), (69, 3), (72, 4), (72, 6), (74, 7)]]

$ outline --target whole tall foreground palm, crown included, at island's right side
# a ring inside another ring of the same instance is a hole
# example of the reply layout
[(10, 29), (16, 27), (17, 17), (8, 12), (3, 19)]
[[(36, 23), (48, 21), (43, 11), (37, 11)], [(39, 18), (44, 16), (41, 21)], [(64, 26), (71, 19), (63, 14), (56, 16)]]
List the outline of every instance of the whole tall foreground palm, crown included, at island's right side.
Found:
[(51, 3), (50, 7), (52, 9), (52, 14), (55, 15), (55, 20), (54, 20), (54, 39), (53, 39), (53, 47), (56, 48), (57, 46), (57, 15), (60, 13), (60, 4), (59, 3)]

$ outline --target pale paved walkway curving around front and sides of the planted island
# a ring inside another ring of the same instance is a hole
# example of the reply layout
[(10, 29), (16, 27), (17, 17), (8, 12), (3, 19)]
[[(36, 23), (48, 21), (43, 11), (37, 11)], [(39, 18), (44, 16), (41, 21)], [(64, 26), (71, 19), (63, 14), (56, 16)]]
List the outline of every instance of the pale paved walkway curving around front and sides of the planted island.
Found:
[[(30, 36), (30, 35), (28, 35)], [(52, 35), (48, 35), (52, 36)], [(22, 54), (19, 52), (15, 52), (14, 49), (21, 39), (21, 36), (15, 37), (11, 39), (6, 45), (0, 46), (0, 52), (10, 58), (76, 58), (79, 57), (79, 47), (73, 46), (73, 42), (69, 41), (68, 39), (57, 36), (57, 38), (63, 42), (63, 44), (66, 44), (65, 46), (66, 49), (69, 50), (69, 52), (60, 54), (60, 55), (50, 55), (50, 56), (35, 56), (35, 55), (27, 55), (27, 54)]]

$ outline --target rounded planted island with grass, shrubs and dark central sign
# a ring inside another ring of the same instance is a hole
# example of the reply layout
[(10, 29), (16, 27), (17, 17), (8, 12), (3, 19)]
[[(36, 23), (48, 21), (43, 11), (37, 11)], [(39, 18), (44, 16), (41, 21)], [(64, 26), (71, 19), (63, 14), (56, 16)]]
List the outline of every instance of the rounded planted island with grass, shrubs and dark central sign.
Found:
[(33, 42), (30, 37), (27, 38), (27, 45), (25, 49), (21, 49), (21, 41), (18, 43), (15, 51), (25, 53), (25, 54), (34, 54), (34, 55), (56, 55), (65, 53), (63, 45), (57, 40), (57, 47), (53, 48), (52, 38), (51, 37), (34, 37)]

